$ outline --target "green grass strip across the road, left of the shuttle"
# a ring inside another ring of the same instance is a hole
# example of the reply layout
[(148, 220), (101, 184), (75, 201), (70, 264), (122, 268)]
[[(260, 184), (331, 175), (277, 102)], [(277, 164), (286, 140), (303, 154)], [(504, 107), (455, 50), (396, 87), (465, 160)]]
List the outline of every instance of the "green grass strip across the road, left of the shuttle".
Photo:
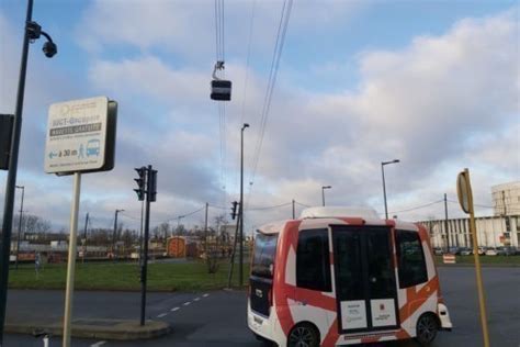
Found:
[[(222, 262), (216, 273), (207, 273), (203, 261), (148, 264), (148, 290), (202, 291), (227, 287), (229, 262)], [(75, 289), (77, 290), (140, 290), (139, 266), (136, 262), (77, 264)], [(247, 283), (249, 265), (244, 267)], [(36, 276), (34, 265), (11, 267), (9, 287), (15, 289), (65, 289), (66, 264), (45, 265)], [(238, 265), (231, 286), (238, 283)]]

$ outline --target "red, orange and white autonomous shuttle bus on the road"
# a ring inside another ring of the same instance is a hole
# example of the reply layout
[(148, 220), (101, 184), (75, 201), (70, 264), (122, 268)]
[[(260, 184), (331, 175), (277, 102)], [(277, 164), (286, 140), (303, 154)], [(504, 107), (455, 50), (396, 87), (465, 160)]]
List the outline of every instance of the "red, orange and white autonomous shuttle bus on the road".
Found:
[(432, 342), (452, 323), (427, 231), (370, 209), (312, 208), (255, 235), (248, 326), (279, 346)]

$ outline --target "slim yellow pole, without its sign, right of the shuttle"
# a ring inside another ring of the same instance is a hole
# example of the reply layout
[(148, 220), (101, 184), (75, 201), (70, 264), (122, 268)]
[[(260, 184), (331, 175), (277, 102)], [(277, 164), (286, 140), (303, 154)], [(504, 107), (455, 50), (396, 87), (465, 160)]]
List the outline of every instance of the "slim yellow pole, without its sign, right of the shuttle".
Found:
[(477, 292), (478, 292), (478, 305), (481, 309), (481, 324), (482, 324), (482, 335), (484, 338), (484, 347), (489, 347), (489, 333), (487, 329), (487, 313), (486, 313), (486, 298), (484, 294), (484, 286), (482, 282), (482, 269), (481, 269), (481, 258), (478, 256), (478, 239), (476, 233), (475, 224), (475, 210), (473, 208), (473, 192), (472, 184), (470, 182), (470, 171), (464, 169), (464, 176), (466, 177), (466, 187), (467, 187), (467, 200), (470, 208), (470, 231), (473, 238), (473, 257), (475, 259), (475, 273), (477, 280)]

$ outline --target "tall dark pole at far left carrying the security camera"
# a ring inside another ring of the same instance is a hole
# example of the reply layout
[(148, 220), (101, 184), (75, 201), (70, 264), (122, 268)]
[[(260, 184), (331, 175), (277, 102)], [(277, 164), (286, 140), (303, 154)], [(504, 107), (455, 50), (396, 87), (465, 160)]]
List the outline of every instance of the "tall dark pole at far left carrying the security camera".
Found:
[[(25, 23), (31, 22), (33, 15), (33, 0), (27, 0), (27, 15)], [(9, 155), (8, 181), (5, 184), (5, 202), (3, 208), (2, 248), (0, 257), (0, 347), (3, 342), (3, 326), (5, 323), (5, 304), (8, 301), (9, 254), (11, 251), (11, 233), (14, 210), (14, 186), (16, 184), (18, 156), (20, 148), (20, 134), (22, 132), (23, 97), (25, 92), (25, 75), (27, 70), (29, 33), (24, 25), (22, 61), (20, 64), (20, 78), (18, 83), (16, 109), (14, 110), (14, 124)]]

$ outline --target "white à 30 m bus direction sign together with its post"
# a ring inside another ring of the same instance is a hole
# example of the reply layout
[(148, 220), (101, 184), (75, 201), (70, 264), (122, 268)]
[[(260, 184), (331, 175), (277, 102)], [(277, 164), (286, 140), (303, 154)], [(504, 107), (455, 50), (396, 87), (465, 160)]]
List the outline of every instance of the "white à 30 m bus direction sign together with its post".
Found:
[(70, 347), (81, 174), (114, 167), (117, 103), (105, 97), (53, 103), (48, 111), (45, 172), (74, 175), (63, 346)]

